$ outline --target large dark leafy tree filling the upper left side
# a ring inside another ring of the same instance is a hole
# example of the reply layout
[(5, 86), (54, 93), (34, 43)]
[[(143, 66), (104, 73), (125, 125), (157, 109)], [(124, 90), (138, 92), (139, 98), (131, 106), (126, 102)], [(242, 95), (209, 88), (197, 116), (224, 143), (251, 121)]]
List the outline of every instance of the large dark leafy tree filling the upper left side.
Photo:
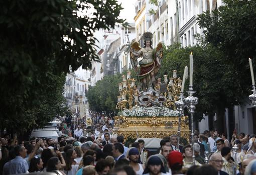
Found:
[(32, 128), (61, 114), (63, 72), (98, 60), (93, 32), (125, 25), (120, 10), (115, 0), (1, 1), (0, 128)]

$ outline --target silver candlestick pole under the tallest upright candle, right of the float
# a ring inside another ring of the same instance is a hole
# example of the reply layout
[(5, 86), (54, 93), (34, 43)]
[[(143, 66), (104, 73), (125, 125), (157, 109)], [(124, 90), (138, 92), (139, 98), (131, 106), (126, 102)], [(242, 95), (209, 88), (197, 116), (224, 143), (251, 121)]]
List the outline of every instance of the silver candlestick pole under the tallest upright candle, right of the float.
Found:
[(196, 91), (193, 91), (193, 86), (189, 85), (189, 90), (187, 91), (188, 97), (184, 99), (184, 103), (186, 104), (187, 108), (189, 109), (189, 113), (191, 114), (191, 137), (192, 137), (192, 157), (193, 157), (193, 164), (195, 165), (195, 145), (194, 145), (194, 126), (193, 126), (193, 114), (195, 113), (195, 105), (198, 103), (198, 98), (194, 97), (193, 94)]

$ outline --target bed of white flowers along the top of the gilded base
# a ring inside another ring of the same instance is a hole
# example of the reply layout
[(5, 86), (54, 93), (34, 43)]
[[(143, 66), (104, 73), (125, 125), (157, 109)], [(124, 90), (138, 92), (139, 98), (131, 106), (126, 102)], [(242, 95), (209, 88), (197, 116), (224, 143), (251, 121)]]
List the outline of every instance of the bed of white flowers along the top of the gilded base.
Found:
[(178, 116), (179, 113), (177, 110), (172, 110), (167, 107), (144, 107), (144, 106), (137, 106), (133, 107), (132, 109), (124, 109), (120, 111), (119, 115), (123, 115), (125, 117), (129, 116), (164, 116), (164, 117), (171, 117), (171, 116)]

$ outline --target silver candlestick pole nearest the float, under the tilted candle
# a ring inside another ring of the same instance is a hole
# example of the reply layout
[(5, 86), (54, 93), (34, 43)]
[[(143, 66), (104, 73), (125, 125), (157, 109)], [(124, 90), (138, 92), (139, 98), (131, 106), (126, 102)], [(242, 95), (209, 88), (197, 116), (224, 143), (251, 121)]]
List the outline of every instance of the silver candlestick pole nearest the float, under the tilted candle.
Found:
[(183, 102), (184, 96), (183, 96), (182, 92), (180, 93), (180, 97), (179, 98), (180, 98), (180, 100), (175, 102), (175, 106), (177, 107), (177, 110), (179, 111), (179, 123), (178, 123), (178, 134), (177, 134), (177, 136), (178, 136), (178, 144), (177, 144), (177, 148), (176, 148), (177, 151), (179, 151), (179, 148), (180, 148), (181, 117), (184, 114), (184, 107), (185, 107), (185, 104)]

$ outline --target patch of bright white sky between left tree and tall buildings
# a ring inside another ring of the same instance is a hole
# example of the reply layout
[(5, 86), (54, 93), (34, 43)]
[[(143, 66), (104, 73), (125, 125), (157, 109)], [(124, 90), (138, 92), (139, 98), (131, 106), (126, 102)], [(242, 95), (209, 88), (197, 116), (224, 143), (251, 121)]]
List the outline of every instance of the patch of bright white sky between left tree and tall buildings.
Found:
[(120, 12), (120, 17), (126, 19), (128, 23), (135, 23), (135, 2), (137, 0), (117, 0), (118, 3), (121, 3), (123, 10)]

